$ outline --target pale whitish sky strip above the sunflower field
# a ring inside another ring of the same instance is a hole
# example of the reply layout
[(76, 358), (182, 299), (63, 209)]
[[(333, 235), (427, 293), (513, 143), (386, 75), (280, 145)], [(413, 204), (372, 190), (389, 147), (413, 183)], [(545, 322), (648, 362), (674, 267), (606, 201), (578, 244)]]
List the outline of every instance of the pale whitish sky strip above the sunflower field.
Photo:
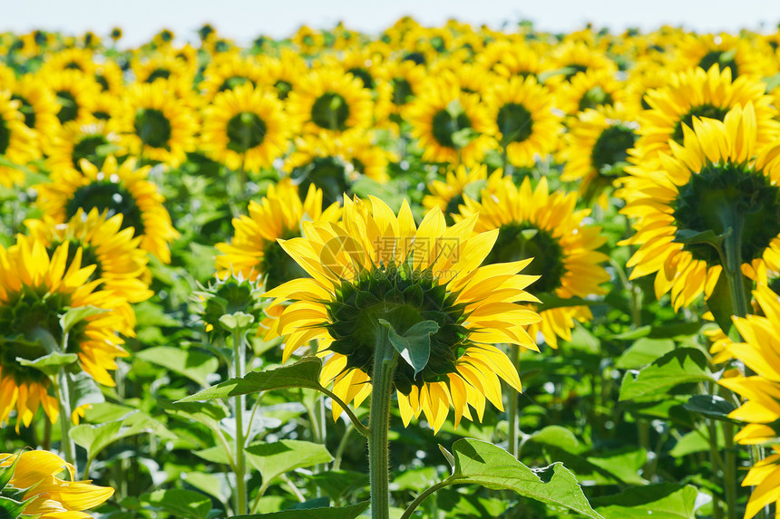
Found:
[[(775, 30), (778, 0), (5, 0), (0, 32), (33, 29), (108, 34), (121, 26), (124, 44), (138, 45), (161, 28), (180, 42), (195, 41), (195, 31), (213, 24), (225, 37), (249, 43), (260, 34), (285, 37), (301, 24), (332, 27), (342, 20), (350, 29), (378, 34), (405, 14), (421, 24), (456, 18), (500, 28), (530, 20), (538, 29), (568, 32), (587, 22), (620, 31), (649, 31), (661, 24), (699, 32), (735, 33), (740, 28)], [(737, 6), (738, 5), (738, 6)]]

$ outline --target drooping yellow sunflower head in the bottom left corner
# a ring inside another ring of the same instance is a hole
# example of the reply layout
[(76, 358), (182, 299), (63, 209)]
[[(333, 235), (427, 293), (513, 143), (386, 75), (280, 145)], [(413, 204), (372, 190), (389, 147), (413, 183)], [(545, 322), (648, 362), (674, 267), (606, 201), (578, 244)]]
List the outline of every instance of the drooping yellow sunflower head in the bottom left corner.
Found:
[[(101, 505), (113, 495), (110, 486), (92, 481), (74, 481), (75, 469), (63, 458), (45, 450), (25, 450), (21, 454), (0, 453), (0, 472), (12, 470), (2, 489), (5, 503), (16, 503), (16, 494), (30, 500), (22, 514), (40, 519), (91, 519), (83, 511)], [(69, 479), (60, 479), (67, 471)]]

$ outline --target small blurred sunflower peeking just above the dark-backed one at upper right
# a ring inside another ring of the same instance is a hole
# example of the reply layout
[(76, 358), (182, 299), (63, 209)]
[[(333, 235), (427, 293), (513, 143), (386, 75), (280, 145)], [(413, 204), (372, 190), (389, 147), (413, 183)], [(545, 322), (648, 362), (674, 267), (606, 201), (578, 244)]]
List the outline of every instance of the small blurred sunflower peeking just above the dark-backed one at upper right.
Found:
[(589, 108), (614, 106), (625, 99), (625, 87), (611, 70), (578, 72), (557, 90), (557, 108), (567, 115), (576, 115)]

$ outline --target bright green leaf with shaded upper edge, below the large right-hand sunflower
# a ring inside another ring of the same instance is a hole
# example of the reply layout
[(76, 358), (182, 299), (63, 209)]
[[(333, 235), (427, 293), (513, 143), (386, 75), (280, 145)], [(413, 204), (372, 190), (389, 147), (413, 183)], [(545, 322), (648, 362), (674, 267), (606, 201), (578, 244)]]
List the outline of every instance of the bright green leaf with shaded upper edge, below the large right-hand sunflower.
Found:
[(707, 358), (694, 348), (669, 351), (634, 379), (630, 374), (620, 386), (620, 401), (648, 399), (667, 395), (669, 389), (690, 382), (712, 380), (707, 372)]

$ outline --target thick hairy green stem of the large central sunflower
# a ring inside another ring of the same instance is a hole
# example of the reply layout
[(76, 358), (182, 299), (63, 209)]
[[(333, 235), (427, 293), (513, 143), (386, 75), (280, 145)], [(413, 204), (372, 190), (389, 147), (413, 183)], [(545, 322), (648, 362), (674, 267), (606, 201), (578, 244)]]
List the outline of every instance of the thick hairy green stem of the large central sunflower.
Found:
[(372, 519), (390, 519), (390, 397), (397, 354), (387, 332), (376, 333), (374, 370), (371, 375), (371, 414), (368, 418), (368, 473), (371, 484)]

